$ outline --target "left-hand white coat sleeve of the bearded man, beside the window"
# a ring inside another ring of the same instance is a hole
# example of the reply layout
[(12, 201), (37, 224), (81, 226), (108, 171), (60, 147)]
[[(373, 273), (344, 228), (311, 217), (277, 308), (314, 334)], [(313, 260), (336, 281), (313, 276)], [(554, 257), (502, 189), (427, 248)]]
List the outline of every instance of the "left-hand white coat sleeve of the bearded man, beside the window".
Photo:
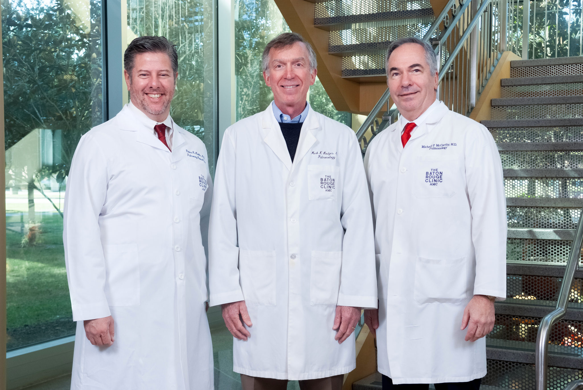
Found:
[(73, 321), (108, 317), (99, 214), (106, 199), (107, 159), (90, 134), (73, 155), (65, 191), (63, 243)]

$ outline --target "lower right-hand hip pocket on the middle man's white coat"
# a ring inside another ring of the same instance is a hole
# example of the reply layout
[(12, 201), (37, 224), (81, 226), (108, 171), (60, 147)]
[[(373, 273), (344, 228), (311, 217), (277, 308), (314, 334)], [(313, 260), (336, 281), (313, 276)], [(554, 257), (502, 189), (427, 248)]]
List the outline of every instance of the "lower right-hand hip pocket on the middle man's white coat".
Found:
[(310, 304), (335, 305), (340, 290), (342, 252), (312, 251)]

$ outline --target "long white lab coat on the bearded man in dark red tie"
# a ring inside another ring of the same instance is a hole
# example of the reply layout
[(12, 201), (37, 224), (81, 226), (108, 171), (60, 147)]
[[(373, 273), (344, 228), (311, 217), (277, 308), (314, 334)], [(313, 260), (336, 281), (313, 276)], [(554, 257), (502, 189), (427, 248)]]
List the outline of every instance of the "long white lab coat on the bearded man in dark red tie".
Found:
[[(83, 135), (71, 164), (63, 233), (78, 321), (71, 389), (213, 388), (205, 145), (173, 124), (170, 152), (146, 122), (126, 105)], [(83, 320), (110, 314), (115, 342), (91, 345)]]

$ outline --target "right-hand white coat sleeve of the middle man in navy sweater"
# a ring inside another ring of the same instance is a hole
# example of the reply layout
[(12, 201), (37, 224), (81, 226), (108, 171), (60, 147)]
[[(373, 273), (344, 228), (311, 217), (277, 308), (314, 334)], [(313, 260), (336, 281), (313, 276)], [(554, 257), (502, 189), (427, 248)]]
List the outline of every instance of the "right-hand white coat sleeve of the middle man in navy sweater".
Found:
[(362, 153), (356, 136), (350, 139), (343, 167), (340, 223), (342, 243), (339, 306), (377, 308), (377, 268), (374, 258), (373, 219)]

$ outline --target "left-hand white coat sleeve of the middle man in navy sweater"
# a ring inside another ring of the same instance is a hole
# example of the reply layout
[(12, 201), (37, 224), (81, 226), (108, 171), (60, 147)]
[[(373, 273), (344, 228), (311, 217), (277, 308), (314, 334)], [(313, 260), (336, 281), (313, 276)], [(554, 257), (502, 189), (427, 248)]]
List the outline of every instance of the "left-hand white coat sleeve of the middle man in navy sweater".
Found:
[(239, 284), (239, 248), (235, 203), (236, 155), (232, 129), (227, 129), (215, 171), (209, 222), (209, 287), (211, 306), (243, 300)]

